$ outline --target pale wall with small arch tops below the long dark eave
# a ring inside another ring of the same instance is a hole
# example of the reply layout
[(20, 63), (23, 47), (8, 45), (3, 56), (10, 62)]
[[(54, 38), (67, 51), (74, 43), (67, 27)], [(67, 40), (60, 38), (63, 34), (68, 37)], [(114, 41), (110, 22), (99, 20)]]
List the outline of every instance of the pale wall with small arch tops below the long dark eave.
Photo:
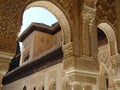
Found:
[(56, 89), (61, 90), (63, 80), (63, 68), (62, 63), (51, 66), (32, 75), (16, 80), (3, 87), (3, 90), (22, 90), (26, 86), (27, 90), (51, 90), (53, 82), (56, 84)]

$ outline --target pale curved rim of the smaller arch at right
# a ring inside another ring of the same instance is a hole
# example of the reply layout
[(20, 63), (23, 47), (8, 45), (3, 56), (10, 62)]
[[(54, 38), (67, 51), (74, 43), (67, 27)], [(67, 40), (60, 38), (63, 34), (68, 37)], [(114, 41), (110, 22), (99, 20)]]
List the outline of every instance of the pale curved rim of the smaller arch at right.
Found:
[(98, 28), (100, 28), (107, 37), (108, 47), (109, 47), (109, 51), (110, 51), (109, 55), (112, 56), (112, 55), (118, 54), (117, 48), (116, 48), (117, 42), (116, 42), (116, 35), (114, 32), (114, 28), (106, 22), (101, 22), (98, 25)]

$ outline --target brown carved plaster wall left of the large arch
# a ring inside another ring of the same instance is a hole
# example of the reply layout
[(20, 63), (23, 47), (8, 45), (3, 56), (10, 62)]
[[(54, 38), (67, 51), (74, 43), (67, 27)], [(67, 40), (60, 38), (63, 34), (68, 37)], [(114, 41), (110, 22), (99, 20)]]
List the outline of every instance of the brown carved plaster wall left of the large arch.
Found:
[(18, 28), (19, 1), (4, 0), (0, 4), (0, 50), (14, 53)]

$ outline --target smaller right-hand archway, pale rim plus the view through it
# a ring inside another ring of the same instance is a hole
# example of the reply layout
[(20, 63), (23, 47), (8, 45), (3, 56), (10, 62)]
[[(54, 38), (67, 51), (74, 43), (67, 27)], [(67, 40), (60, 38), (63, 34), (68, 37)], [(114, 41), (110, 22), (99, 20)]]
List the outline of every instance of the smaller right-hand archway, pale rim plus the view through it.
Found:
[[(100, 90), (108, 90), (112, 80), (109, 76), (109, 57), (117, 54), (116, 37), (113, 28), (107, 23), (100, 23), (97, 28), (98, 61), (100, 66)], [(110, 83), (109, 83), (110, 82)]]

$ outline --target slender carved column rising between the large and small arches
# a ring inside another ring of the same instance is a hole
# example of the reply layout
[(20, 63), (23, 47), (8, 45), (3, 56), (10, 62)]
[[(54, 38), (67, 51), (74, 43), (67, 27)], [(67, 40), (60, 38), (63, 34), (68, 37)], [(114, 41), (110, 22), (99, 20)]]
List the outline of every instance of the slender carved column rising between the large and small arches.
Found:
[[(94, 27), (95, 9), (84, 6), (82, 10), (82, 55), (96, 57), (97, 33)], [(95, 34), (94, 34), (95, 33)]]

